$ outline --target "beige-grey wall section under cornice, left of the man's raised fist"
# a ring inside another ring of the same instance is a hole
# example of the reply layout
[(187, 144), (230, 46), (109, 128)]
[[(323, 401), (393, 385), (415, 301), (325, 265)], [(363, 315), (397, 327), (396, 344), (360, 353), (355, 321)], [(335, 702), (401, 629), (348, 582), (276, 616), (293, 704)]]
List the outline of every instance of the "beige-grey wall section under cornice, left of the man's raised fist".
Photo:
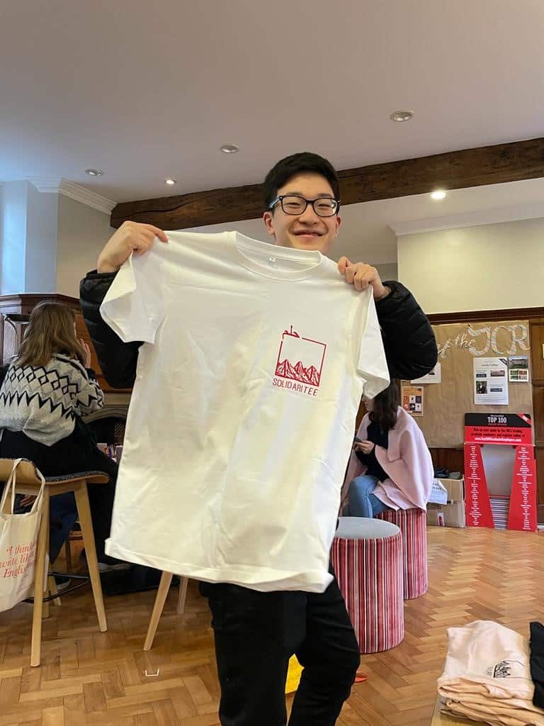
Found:
[(57, 223), (57, 293), (79, 297), (79, 282), (91, 269), (115, 229), (110, 216), (59, 195)]

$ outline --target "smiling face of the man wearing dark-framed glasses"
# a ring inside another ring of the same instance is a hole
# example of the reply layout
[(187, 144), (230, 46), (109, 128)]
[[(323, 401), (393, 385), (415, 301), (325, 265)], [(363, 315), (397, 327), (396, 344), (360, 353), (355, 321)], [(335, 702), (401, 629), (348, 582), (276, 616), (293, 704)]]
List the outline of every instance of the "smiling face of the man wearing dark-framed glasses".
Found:
[[(296, 195), (305, 199), (334, 199), (334, 192), (325, 177), (313, 173), (293, 176), (278, 189), (278, 196), (280, 195)], [(331, 248), (341, 222), (337, 214), (331, 217), (318, 216), (311, 204), (301, 214), (286, 214), (280, 203), (265, 212), (264, 221), (268, 234), (274, 237), (276, 245), (297, 250), (319, 250), (324, 255)]]

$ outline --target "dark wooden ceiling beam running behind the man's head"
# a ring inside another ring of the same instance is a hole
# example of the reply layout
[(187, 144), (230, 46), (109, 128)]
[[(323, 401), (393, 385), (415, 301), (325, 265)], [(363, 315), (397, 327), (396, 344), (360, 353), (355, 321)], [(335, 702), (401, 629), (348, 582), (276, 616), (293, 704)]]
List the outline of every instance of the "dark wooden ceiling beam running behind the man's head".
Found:
[[(544, 176), (544, 139), (464, 149), (417, 159), (372, 164), (339, 172), (342, 204), (464, 189)], [(176, 197), (123, 202), (112, 211), (112, 227), (123, 221), (161, 229), (187, 229), (263, 214), (262, 184), (212, 189)]]

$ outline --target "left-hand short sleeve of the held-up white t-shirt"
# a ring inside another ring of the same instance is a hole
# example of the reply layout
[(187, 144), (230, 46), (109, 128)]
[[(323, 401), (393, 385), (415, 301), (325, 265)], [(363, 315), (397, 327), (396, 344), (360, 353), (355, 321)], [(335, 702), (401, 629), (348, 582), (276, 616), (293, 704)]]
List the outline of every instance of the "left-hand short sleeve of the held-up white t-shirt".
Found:
[(100, 314), (124, 343), (154, 343), (165, 305), (160, 261), (153, 249), (125, 261), (102, 301)]

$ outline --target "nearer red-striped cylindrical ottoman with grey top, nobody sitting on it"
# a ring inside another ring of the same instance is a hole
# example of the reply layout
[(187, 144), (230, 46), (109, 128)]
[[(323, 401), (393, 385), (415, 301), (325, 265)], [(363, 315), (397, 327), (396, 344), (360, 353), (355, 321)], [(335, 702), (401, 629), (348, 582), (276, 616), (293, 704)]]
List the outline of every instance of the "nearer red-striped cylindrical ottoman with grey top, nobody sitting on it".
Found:
[(400, 529), (379, 519), (341, 517), (331, 560), (360, 652), (395, 648), (404, 637)]

